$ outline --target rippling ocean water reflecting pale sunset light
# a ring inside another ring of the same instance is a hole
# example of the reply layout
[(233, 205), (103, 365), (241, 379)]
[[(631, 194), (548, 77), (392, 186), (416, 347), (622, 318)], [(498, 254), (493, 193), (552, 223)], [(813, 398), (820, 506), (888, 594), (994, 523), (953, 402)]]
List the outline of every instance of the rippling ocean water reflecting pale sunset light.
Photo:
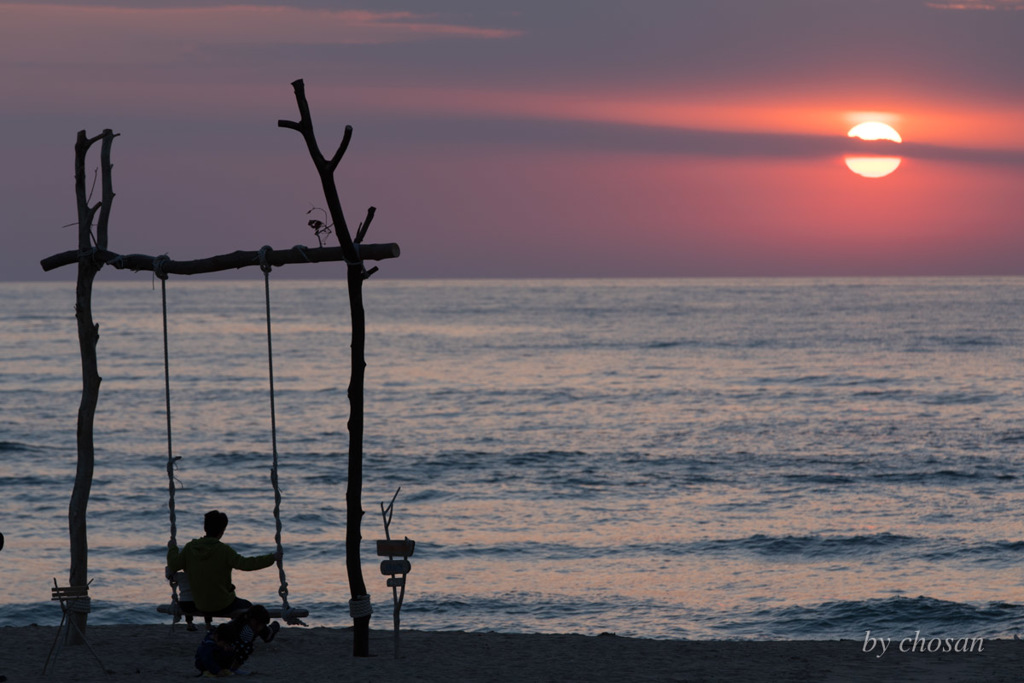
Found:
[[(90, 624), (170, 624), (161, 292), (97, 279)], [(0, 284), (0, 626), (55, 625), (73, 283)], [(273, 549), (263, 281), (168, 282), (177, 541)], [(362, 572), (402, 628), (674, 639), (1024, 625), (1024, 279), (388, 281), (367, 310)], [(343, 281), (271, 274), (289, 601), (349, 625)], [(236, 572), (273, 606), (275, 570)]]

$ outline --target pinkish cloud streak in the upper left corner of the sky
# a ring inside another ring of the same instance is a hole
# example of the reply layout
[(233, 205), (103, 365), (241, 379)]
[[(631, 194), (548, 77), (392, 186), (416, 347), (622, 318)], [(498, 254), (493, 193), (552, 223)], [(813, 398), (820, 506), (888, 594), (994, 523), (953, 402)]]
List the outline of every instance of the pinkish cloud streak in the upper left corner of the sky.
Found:
[(0, 61), (167, 63), (206, 48), (505, 39), (516, 31), (408, 11), (287, 6), (109, 7), (0, 3)]

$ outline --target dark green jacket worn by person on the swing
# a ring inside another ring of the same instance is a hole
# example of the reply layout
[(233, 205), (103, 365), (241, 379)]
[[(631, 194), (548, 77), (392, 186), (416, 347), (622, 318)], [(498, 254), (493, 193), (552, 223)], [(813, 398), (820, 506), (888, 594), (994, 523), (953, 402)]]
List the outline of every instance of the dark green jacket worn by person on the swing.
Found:
[(167, 549), (168, 568), (184, 569), (196, 607), (205, 612), (220, 611), (234, 602), (231, 569), (255, 571), (270, 566), (275, 559), (273, 553), (244, 557), (226, 543), (208, 536), (193, 539), (180, 551), (177, 546)]

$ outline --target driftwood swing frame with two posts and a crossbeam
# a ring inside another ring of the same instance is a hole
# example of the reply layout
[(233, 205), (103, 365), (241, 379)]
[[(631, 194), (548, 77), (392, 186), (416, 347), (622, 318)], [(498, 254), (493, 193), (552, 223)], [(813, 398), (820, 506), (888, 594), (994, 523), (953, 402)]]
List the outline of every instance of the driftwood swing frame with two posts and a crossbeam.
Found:
[[(316, 136), (313, 132), (309, 105), (305, 96), (303, 81), (292, 83), (296, 103), (299, 109), (299, 121), (281, 120), (278, 126), (298, 131), (306, 143), (310, 159), (321, 178), (325, 200), (328, 206), (335, 234), (338, 238), (338, 248), (289, 250), (269, 250), (265, 254), (270, 265), (287, 263), (304, 263), (319, 261), (344, 261), (346, 264), (349, 309), (351, 312), (351, 376), (348, 385), (350, 416), (348, 420), (348, 486), (346, 490), (346, 532), (345, 532), (345, 565), (348, 574), (349, 589), (352, 599), (349, 609), (353, 620), (353, 655), (370, 655), (370, 596), (367, 594), (366, 583), (359, 564), (359, 541), (361, 539), (359, 524), (364, 515), (361, 506), (362, 489), (362, 430), (364, 430), (364, 378), (366, 369), (366, 312), (362, 305), (362, 282), (372, 275), (377, 267), (367, 269), (367, 260), (384, 260), (396, 258), (400, 250), (396, 244), (369, 245), (362, 244), (367, 230), (373, 220), (375, 208), (370, 207), (366, 219), (359, 224), (355, 236), (351, 236), (342, 211), (334, 171), (341, 162), (352, 136), (352, 127), (346, 126), (345, 133), (338, 150), (331, 159), (327, 159), (319, 151)], [(111, 146), (117, 135), (105, 129), (99, 135), (88, 137), (85, 131), (79, 131), (75, 144), (75, 189), (78, 204), (78, 249), (61, 252), (44, 258), (41, 261), (43, 270), (49, 271), (63, 265), (78, 263), (78, 282), (76, 287), (75, 315), (78, 321), (79, 346), (82, 355), (82, 401), (78, 412), (78, 465), (75, 475), (75, 485), (69, 504), (69, 537), (71, 541), (71, 568), (69, 585), (83, 587), (88, 585), (88, 539), (86, 530), (86, 510), (89, 493), (92, 486), (92, 474), (95, 460), (93, 441), (93, 426), (96, 405), (99, 396), (101, 378), (98, 374), (96, 360), (96, 345), (99, 339), (99, 326), (92, 317), (92, 284), (96, 273), (103, 265), (131, 270), (158, 270), (170, 274), (198, 274), (216, 272), (232, 268), (260, 265), (260, 252), (236, 251), (204, 259), (191, 261), (173, 261), (165, 256), (153, 257), (140, 254), (118, 254), (108, 247), (108, 224), (111, 206), (114, 201), (112, 182)], [(100, 170), (102, 178), (101, 199), (90, 206), (89, 195), (86, 191), (85, 159), (89, 148), (101, 141)], [(93, 220), (96, 219), (96, 233), (92, 234)], [(74, 629), (80, 637), (76, 643), (84, 641), (86, 629), (86, 613), (73, 612), (69, 618), (75, 620)]]

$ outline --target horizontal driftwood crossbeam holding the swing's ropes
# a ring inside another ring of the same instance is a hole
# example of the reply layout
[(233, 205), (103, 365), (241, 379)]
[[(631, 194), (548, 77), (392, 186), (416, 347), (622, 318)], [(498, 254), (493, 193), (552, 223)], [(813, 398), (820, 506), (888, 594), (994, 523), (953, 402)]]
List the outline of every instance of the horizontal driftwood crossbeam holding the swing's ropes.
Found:
[[(371, 261), (383, 261), (397, 258), (400, 253), (398, 245), (359, 245), (359, 258)], [(53, 256), (47, 256), (40, 265), (43, 270), (53, 270), (63, 265), (78, 263), (82, 252), (66, 251)], [(204, 272), (217, 272), (259, 265), (259, 251), (236, 251), (230, 254), (220, 254), (208, 258), (190, 261), (174, 261), (163, 256), (147, 256), (145, 254), (116, 254), (106, 249), (86, 250), (99, 265), (110, 265), (124, 270), (154, 270), (154, 264), (160, 262), (163, 272), (174, 275), (197, 275)], [(292, 247), (283, 250), (267, 250), (267, 262), (273, 266), (293, 263), (323, 263), (328, 261), (344, 261), (345, 254), (341, 247)]]

